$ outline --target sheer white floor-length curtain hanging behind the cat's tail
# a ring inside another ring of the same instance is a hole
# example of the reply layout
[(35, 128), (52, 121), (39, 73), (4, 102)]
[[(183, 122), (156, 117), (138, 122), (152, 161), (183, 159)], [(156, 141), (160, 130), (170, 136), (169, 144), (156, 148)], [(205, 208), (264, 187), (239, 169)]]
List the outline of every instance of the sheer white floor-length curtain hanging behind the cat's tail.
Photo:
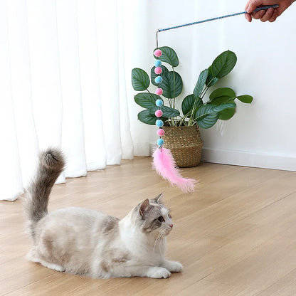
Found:
[(145, 3), (0, 0), (0, 199), (23, 193), (46, 147), (67, 156), (60, 182), (149, 154), (130, 83)]

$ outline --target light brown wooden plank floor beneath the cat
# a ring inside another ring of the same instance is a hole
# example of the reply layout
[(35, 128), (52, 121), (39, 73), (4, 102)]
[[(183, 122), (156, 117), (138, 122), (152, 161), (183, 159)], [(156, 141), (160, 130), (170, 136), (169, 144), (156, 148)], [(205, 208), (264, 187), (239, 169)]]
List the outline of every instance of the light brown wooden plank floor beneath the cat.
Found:
[(171, 188), (143, 157), (68, 179), (50, 201), (50, 210), (84, 206), (122, 218), (165, 191), (174, 219), (167, 257), (183, 273), (94, 280), (30, 263), (21, 201), (1, 201), (0, 295), (296, 295), (296, 173), (206, 163), (183, 172), (199, 179), (194, 194)]

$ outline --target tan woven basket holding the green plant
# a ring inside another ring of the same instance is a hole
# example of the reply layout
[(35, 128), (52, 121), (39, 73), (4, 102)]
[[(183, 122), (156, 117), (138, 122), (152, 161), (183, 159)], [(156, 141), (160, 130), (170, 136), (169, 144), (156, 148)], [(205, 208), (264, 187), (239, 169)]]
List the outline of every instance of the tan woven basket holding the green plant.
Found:
[(198, 126), (162, 128), (164, 147), (171, 150), (177, 166), (197, 166), (201, 162), (203, 141)]

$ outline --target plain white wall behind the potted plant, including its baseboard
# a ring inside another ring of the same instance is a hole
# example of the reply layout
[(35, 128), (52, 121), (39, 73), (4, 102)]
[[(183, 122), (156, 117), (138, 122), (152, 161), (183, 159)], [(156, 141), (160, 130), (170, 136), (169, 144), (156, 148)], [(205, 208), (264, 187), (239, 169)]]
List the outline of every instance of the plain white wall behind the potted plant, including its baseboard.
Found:
[[(149, 0), (147, 43), (153, 51), (157, 28), (233, 14), (243, 11), (245, 2)], [(228, 49), (238, 62), (217, 87), (254, 97), (251, 105), (237, 102), (231, 120), (201, 130), (204, 161), (296, 171), (295, 14), (292, 4), (275, 23), (248, 23), (244, 16), (234, 16), (159, 33), (159, 46), (171, 46), (179, 56), (176, 70), (184, 80), (180, 101), (192, 93), (201, 70)], [(152, 55), (143, 60), (139, 68), (154, 62)], [(157, 139), (156, 130), (150, 129), (151, 143)]]

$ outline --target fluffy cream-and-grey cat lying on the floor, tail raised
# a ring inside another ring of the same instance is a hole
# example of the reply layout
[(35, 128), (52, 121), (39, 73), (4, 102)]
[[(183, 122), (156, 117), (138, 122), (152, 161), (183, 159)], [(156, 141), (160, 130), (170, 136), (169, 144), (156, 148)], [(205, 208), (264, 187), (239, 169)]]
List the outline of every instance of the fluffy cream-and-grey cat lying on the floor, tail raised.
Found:
[(181, 263), (164, 258), (173, 224), (160, 201), (162, 194), (145, 199), (122, 220), (86, 208), (48, 213), (48, 197), (64, 164), (58, 149), (39, 157), (26, 197), (33, 238), (28, 260), (61, 272), (104, 278), (166, 278), (182, 270)]

